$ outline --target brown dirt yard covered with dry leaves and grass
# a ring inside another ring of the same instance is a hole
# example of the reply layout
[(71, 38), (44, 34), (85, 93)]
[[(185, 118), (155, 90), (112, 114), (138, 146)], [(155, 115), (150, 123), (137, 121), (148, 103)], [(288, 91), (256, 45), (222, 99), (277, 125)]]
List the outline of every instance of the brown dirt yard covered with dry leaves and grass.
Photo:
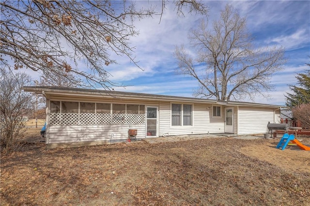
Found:
[[(310, 145), (310, 137), (301, 142)], [(310, 151), (279, 139), (143, 141), (1, 155), (1, 205), (310, 205)]]

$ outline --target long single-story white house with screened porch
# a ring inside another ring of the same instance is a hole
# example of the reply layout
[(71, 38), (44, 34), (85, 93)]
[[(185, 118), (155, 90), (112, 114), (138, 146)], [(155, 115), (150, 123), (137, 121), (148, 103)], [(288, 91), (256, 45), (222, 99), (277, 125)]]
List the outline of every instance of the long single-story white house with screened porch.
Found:
[(255, 134), (280, 123), (279, 105), (84, 88), (23, 87), (46, 99), (47, 147), (185, 134)]

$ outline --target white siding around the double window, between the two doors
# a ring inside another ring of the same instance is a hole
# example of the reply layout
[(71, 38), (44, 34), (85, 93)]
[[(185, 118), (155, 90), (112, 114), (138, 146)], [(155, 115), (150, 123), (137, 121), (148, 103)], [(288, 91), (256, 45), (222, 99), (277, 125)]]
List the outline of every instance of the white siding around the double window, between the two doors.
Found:
[(169, 135), (185, 134), (206, 134), (224, 132), (224, 108), (222, 107), (222, 117), (212, 118), (211, 104), (193, 104), (193, 125), (192, 126), (171, 126), (171, 103), (159, 103), (159, 135), (164, 133)]

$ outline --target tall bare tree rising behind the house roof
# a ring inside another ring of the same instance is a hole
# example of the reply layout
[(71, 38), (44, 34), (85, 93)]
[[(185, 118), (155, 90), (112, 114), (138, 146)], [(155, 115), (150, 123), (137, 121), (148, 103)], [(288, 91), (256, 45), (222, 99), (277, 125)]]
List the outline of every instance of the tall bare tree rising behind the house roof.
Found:
[[(189, 34), (197, 51), (194, 60), (184, 45), (177, 46), (177, 73), (196, 78), (201, 98), (242, 100), (254, 95), (267, 95), (273, 89), (272, 74), (283, 69), (284, 48), (254, 48), (246, 27), (246, 18), (238, 15), (233, 6), (226, 5), (220, 19), (208, 30), (204, 20)], [(203, 69), (201, 69), (203, 68)]]

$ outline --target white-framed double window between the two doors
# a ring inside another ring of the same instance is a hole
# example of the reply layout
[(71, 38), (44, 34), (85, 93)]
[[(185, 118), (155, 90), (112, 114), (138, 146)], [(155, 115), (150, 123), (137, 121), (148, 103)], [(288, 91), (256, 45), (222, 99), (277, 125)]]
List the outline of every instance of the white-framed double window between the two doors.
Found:
[(192, 124), (191, 104), (171, 104), (171, 126), (190, 126)]

